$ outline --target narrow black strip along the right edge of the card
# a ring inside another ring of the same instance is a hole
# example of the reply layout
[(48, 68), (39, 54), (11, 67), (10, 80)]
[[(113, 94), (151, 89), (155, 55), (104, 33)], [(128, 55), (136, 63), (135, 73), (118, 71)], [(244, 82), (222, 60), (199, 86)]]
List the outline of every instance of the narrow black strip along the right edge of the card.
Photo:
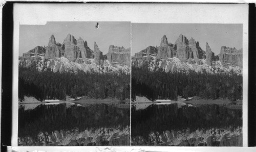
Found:
[(256, 146), (256, 6), (249, 4), (248, 18), (248, 146)]

